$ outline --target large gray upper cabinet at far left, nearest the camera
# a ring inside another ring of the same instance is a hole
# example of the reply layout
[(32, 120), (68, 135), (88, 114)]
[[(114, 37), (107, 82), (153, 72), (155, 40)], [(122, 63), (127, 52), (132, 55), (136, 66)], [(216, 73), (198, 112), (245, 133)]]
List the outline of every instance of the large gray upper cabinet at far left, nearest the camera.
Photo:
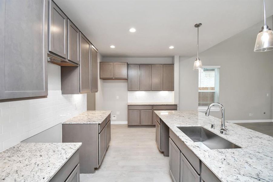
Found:
[(0, 41), (0, 99), (48, 95), (48, 1), (1, 0)]

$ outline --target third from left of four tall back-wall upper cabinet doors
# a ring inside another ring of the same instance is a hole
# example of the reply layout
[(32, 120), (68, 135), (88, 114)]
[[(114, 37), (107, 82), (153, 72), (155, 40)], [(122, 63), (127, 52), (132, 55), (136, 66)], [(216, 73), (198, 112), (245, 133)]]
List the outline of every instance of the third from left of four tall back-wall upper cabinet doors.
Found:
[(163, 65), (156, 64), (152, 65), (152, 91), (161, 91), (163, 90)]

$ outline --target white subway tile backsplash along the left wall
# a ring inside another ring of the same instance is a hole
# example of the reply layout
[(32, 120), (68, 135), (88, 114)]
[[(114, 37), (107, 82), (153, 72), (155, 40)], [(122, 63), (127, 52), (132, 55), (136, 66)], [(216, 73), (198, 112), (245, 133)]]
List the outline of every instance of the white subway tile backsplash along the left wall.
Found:
[(0, 103), (0, 151), (86, 111), (86, 94)]

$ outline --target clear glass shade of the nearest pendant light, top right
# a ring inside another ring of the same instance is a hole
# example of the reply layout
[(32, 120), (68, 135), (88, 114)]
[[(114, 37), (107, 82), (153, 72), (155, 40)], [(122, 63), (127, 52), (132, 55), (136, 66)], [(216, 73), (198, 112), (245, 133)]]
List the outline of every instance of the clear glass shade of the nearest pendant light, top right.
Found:
[(273, 50), (273, 31), (267, 30), (258, 33), (254, 52)]

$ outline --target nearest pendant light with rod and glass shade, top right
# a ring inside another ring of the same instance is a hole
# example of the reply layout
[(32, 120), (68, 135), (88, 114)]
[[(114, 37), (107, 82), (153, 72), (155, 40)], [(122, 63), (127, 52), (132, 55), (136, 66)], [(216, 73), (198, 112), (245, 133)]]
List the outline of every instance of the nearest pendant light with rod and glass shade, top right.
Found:
[(260, 33), (257, 35), (254, 52), (263, 52), (273, 50), (273, 31), (266, 25), (265, 19), (265, 0), (264, 4), (264, 26), (261, 27)]

